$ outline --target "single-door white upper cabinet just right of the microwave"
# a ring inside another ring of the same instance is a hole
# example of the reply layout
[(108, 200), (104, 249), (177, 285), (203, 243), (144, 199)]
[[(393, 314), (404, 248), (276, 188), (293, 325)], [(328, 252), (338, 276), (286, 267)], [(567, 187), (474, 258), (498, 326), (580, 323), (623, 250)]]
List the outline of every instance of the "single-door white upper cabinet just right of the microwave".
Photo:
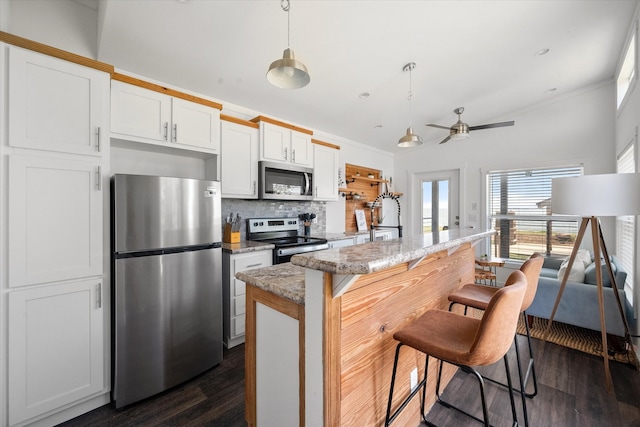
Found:
[(313, 145), (313, 199), (338, 200), (339, 151), (321, 144)]

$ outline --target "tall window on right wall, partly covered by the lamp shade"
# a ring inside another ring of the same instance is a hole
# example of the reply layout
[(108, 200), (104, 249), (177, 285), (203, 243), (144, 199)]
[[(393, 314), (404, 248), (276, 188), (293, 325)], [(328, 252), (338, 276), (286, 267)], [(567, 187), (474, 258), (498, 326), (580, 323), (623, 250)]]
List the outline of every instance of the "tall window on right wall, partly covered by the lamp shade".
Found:
[[(617, 161), (618, 173), (634, 173), (635, 153), (633, 143), (627, 147)], [(635, 267), (635, 242), (636, 241), (636, 217), (633, 215), (619, 216), (616, 218), (616, 256), (627, 272), (625, 282), (625, 295), (629, 303), (635, 307), (633, 301), (634, 267)]]

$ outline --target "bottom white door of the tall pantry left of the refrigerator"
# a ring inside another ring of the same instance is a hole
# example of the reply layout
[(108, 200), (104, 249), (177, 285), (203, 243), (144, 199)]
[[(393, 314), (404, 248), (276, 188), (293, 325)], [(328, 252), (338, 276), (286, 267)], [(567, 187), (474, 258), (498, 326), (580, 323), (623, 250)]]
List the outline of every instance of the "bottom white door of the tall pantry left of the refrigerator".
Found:
[(102, 283), (9, 292), (9, 424), (104, 387)]

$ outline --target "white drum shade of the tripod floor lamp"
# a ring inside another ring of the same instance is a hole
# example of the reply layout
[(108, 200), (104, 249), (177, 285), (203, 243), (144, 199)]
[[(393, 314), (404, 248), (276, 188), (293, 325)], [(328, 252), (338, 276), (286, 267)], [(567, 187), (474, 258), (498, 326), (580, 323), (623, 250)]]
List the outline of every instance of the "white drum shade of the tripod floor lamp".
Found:
[(555, 214), (640, 215), (640, 174), (614, 173), (556, 178), (551, 181)]

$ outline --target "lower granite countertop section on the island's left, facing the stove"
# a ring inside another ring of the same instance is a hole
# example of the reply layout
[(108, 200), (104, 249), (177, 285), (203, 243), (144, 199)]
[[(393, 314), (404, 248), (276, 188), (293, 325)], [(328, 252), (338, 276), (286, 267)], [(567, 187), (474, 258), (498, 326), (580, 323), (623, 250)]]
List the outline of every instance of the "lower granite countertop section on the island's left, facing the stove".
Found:
[(290, 262), (239, 271), (236, 277), (249, 285), (304, 305), (304, 268)]

